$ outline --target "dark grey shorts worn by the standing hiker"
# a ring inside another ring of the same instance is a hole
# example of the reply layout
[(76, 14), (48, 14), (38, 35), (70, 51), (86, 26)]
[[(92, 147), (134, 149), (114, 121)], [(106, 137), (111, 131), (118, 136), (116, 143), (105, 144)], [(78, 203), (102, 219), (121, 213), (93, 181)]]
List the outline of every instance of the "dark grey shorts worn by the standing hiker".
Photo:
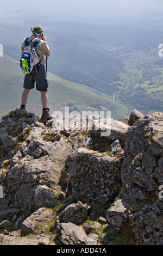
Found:
[(48, 81), (46, 78), (44, 65), (40, 65), (40, 70), (38, 73), (25, 75), (23, 87), (26, 89), (33, 89), (35, 87), (35, 82), (36, 90), (40, 90), (40, 92), (47, 92)]

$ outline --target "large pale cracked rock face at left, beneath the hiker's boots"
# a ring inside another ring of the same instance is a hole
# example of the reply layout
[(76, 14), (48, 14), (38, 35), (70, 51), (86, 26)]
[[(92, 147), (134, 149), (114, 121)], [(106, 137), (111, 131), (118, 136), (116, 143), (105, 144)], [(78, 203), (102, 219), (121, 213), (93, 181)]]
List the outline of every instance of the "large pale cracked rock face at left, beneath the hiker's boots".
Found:
[(71, 151), (70, 143), (22, 109), (3, 117), (0, 127), (4, 194), (0, 208), (14, 205), (33, 211), (44, 205), (54, 206), (61, 191), (60, 171)]

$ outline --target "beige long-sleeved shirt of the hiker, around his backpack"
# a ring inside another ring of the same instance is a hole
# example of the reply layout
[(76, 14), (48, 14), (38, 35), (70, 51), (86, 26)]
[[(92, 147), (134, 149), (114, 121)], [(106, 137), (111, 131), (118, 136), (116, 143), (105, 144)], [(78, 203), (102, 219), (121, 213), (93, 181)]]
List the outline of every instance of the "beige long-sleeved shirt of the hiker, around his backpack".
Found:
[[(28, 39), (29, 45), (32, 45), (34, 43), (34, 41), (39, 38), (39, 36), (35, 36), (35, 35), (31, 35)], [(22, 53), (25, 47), (25, 40), (26, 38), (24, 38), (23, 42), (22, 42)], [(36, 45), (35, 47), (37, 55), (39, 57), (39, 61), (41, 60), (40, 64), (43, 65), (46, 63), (45, 58), (43, 57), (43, 54), (48, 57), (51, 54), (51, 50), (49, 49), (47, 43), (45, 41), (43, 41), (42, 39), (40, 40), (40, 42)]]

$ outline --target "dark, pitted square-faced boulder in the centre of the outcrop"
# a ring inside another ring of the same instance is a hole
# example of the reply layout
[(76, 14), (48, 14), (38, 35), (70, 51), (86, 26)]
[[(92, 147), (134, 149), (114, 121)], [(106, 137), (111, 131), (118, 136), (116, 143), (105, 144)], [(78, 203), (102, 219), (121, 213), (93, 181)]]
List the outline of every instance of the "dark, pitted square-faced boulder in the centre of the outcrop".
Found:
[(121, 165), (121, 155), (79, 148), (68, 156), (61, 178), (66, 174), (70, 177), (68, 186), (74, 197), (82, 196), (87, 201), (107, 205), (119, 193)]

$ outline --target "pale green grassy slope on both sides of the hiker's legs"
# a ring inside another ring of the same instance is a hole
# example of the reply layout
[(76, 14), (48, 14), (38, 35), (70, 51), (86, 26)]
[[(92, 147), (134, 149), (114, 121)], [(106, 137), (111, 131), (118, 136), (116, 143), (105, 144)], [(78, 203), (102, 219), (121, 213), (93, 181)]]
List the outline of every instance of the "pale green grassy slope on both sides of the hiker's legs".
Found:
[[(11, 108), (20, 106), (24, 75), (19, 62), (4, 54), (4, 57), (0, 59), (0, 76), (0, 116), (2, 117)], [(108, 96), (108, 94), (64, 80), (50, 72), (48, 72), (47, 78), (49, 81), (48, 103), (51, 106), (51, 112), (64, 109), (64, 106), (71, 103), (79, 111), (111, 111), (111, 117), (115, 119), (128, 114), (128, 108), (112, 101), (112, 96)], [(33, 105), (36, 112), (40, 110), (40, 93), (33, 89), (27, 103), (29, 106)]]

